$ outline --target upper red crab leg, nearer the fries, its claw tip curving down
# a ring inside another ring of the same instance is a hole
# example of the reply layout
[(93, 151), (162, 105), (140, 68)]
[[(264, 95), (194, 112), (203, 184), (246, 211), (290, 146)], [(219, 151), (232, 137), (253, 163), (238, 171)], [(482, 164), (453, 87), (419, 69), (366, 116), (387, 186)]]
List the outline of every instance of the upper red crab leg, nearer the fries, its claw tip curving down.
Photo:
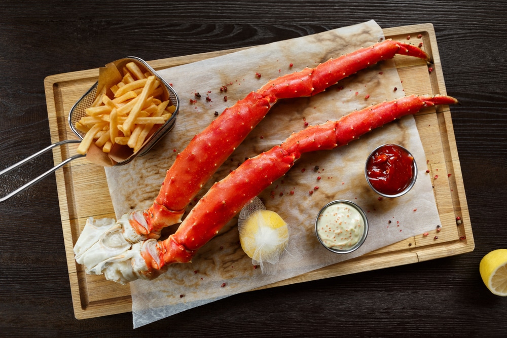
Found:
[(331, 59), (315, 68), (279, 77), (225, 109), (177, 155), (153, 205), (142, 214), (134, 211), (126, 216), (128, 222), (123, 222), (124, 228), (132, 228), (125, 230), (126, 238), (132, 243), (158, 238), (162, 228), (179, 223), (189, 202), (278, 99), (315, 95), (395, 54), (430, 62), (430, 57), (420, 48), (386, 40)]

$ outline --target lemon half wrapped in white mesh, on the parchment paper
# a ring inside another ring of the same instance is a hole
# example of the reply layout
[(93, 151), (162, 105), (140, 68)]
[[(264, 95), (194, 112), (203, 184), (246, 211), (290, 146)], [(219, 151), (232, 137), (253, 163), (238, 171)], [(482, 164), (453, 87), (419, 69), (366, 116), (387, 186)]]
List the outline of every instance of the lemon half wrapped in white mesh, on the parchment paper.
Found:
[(275, 264), (288, 242), (287, 223), (274, 211), (258, 210), (240, 228), (239, 241), (248, 257)]

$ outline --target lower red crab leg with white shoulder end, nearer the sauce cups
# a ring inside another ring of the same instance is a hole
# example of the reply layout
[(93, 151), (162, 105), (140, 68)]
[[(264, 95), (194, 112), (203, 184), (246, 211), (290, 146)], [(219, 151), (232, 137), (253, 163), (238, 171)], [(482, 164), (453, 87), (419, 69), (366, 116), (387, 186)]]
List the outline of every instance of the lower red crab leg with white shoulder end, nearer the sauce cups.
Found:
[[(291, 169), (302, 154), (345, 145), (374, 128), (415, 114), (423, 107), (453, 103), (457, 100), (449, 96), (412, 95), (293, 133), (281, 145), (246, 160), (216, 182), (166, 240), (149, 239), (135, 244), (127, 253), (102, 262), (103, 272), (106, 278), (124, 283), (136, 278), (155, 278), (170, 264), (190, 262), (200, 247), (218, 234), (248, 201)], [(121, 269), (114, 264), (120, 264)]]

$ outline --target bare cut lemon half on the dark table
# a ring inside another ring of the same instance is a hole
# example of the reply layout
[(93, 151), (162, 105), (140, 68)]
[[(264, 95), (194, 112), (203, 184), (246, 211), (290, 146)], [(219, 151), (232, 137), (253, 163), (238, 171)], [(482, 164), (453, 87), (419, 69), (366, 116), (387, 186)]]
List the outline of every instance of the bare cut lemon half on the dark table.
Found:
[(487, 288), (496, 295), (507, 296), (507, 249), (493, 250), (479, 264)]

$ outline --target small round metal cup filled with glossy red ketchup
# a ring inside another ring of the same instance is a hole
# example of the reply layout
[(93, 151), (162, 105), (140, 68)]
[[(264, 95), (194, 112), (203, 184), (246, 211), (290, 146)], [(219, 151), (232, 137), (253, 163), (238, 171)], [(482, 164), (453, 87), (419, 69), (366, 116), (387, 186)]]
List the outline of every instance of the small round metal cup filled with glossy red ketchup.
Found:
[(383, 144), (370, 153), (365, 165), (366, 180), (383, 197), (406, 194), (417, 179), (414, 157), (403, 146)]

